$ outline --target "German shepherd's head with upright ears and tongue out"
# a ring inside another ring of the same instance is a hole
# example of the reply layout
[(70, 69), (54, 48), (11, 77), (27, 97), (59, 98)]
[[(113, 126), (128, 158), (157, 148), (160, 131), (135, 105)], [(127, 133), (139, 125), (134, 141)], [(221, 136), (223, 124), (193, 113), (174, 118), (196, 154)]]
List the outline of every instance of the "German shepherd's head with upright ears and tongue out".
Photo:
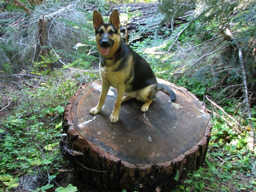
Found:
[(118, 11), (115, 9), (110, 18), (109, 23), (104, 23), (101, 14), (93, 11), (92, 26), (95, 32), (95, 40), (100, 54), (103, 57), (112, 57), (120, 46), (120, 20)]

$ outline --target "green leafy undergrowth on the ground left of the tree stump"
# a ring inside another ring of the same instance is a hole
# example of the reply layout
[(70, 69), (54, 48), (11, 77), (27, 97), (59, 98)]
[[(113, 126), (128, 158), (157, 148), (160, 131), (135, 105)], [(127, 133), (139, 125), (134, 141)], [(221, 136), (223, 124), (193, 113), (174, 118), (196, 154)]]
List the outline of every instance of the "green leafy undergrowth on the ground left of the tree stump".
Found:
[(56, 192), (77, 191), (71, 184), (58, 187), (55, 182), (58, 170), (67, 167), (59, 150), (62, 116), (78, 86), (97, 78), (98, 72), (92, 70), (88, 75), (85, 70), (82, 73), (65, 67), (46, 75), (37, 66), (32, 71), (38, 77), (30, 79), (36, 89), (22, 86), (17, 96), (6, 93), (17, 107), (0, 122), (0, 191), (12, 191), (18, 187), (19, 177), (33, 174), (44, 180), (43, 187), (36, 191), (46, 191), (55, 185)]

